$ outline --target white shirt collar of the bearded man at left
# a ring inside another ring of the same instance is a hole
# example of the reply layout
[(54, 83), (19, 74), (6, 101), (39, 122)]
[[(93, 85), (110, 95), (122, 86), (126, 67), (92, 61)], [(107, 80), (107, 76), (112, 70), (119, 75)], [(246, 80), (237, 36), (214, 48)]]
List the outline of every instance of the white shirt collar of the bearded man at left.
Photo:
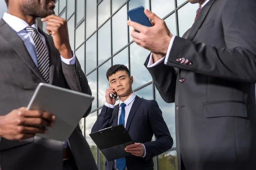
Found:
[[(29, 26), (26, 21), (15, 17), (11, 14), (4, 13), (3, 14), (3, 20), (17, 33), (25, 29), (27, 26)], [(38, 23), (35, 21), (35, 23), (32, 25), (33, 28), (35, 28), (38, 31)]]

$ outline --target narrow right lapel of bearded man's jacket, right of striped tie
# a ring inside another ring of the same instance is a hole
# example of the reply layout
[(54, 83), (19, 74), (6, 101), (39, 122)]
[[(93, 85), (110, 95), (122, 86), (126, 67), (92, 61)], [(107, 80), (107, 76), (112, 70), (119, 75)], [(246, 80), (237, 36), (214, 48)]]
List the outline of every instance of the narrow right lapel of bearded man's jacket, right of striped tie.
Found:
[(47, 35), (43, 30), (38, 28), (38, 31), (44, 35), (46, 44), (48, 47), (48, 54), (49, 54), (49, 60), (50, 60), (50, 73), (49, 73), (49, 84), (52, 84), (53, 76), (54, 76), (54, 70), (55, 70), (55, 62), (56, 62), (56, 53), (54, 52), (55, 45), (52, 42), (52, 39)]

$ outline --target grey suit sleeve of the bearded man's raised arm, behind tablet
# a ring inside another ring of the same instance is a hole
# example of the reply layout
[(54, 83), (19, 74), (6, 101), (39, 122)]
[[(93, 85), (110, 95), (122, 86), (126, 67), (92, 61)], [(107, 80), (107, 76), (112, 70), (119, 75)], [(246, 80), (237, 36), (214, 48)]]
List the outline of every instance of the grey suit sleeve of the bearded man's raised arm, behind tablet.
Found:
[[(84, 72), (81, 69), (81, 65), (76, 58), (76, 63), (74, 65), (68, 65), (61, 61), (62, 70), (66, 82), (71, 90), (79, 91), (85, 94), (91, 95), (92, 92), (90, 90), (90, 86), (88, 85), (87, 78), (84, 75)], [(91, 111), (91, 106), (84, 114), (86, 117)]]

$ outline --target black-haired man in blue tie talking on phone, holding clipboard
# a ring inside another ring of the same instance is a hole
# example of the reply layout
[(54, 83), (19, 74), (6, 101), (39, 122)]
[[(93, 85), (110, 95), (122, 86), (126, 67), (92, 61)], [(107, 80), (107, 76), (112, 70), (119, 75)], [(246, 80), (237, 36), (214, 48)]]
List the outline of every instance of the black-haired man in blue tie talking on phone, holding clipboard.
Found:
[[(133, 156), (106, 161), (106, 170), (154, 170), (153, 157), (172, 148), (173, 140), (162, 111), (155, 100), (142, 99), (132, 91), (133, 77), (125, 65), (113, 65), (107, 71), (110, 88), (106, 103), (93, 125), (92, 132), (123, 124), (135, 144), (125, 150)], [(114, 106), (119, 96), (119, 105)], [(157, 140), (151, 142), (153, 134)], [(115, 154), (115, 153), (113, 153)]]

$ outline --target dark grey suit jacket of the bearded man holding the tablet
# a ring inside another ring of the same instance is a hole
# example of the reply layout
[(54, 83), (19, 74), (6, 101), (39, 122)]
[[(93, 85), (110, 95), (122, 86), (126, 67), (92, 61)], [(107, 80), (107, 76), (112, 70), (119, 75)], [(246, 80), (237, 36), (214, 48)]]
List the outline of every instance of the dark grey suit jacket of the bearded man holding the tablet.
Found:
[[(87, 79), (76, 60), (75, 65), (61, 62), (52, 38), (38, 29), (47, 42), (50, 59), (49, 84), (91, 94)], [(0, 115), (26, 107), (39, 83), (45, 82), (28, 51), (12, 28), (0, 19)], [(90, 109), (84, 116), (90, 112)], [(72, 114), (72, 113), (70, 113)], [(79, 170), (96, 170), (90, 147), (77, 127), (69, 145)], [(61, 141), (34, 137), (32, 139), (0, 140), (0, 169), (2, 170), (62, 170)]]

